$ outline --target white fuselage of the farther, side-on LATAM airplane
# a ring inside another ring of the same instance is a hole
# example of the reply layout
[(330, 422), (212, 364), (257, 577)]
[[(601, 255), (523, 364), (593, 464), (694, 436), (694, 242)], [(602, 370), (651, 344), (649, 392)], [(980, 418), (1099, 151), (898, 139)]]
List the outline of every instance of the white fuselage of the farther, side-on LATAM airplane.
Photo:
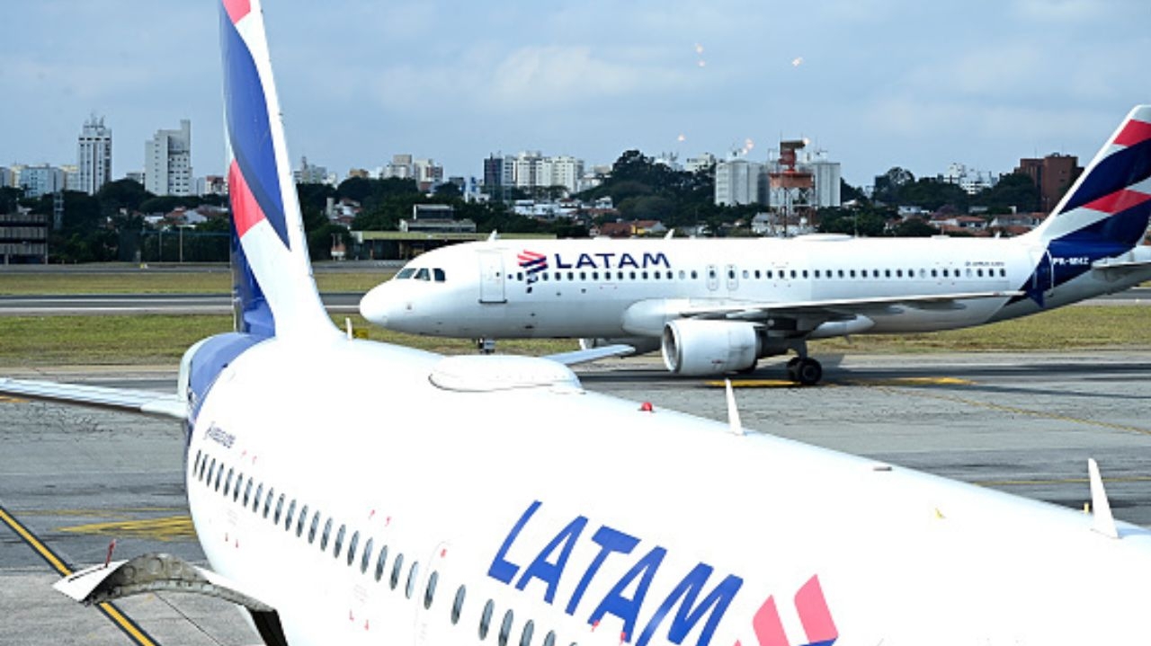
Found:
[[(922, 332), (980, 325), (1128, 289), (1151, 269), (1104, 277), (1083, 257), (1052, 254), (1038, 239), (811, 236), (795, 239), (495, 240), (426, 253), (407, 268), (444, 279), (392, 279), (361, 310), (389, 329), (470, 338), (655, 337), (685, 306), (762, 306), (834, 299), (1003, 292), (948, 307), (894, 305), (852, 324), (828, 323), (811, 338)], [(542, 255), (531, 277), (521, 254)], [(1149, 260), (1136, 247), (1133, 257)], [(1093, 260), (1093, 259), (1092, 259)], [(1085, 271), (1037, 285), (1041, 262)], [(1043, 293), (1012, 298), (1029, 287)]]

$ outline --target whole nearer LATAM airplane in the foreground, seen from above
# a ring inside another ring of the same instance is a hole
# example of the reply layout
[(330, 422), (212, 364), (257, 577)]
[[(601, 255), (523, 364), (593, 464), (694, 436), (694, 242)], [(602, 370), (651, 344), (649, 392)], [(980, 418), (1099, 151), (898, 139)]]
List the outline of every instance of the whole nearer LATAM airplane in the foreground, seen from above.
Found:
[(183, 422), (209, 568), (143, 554), (61, 592), (213, 595), (290, 646), (1151, 635), (1151, 530), (1114, 520), (1093, 462), (1085, 514), (750, 432), (730, 384), (724, 424), (587, 392), (547, 359), (341, 332), (311, 275), (259, 0), (223, 0), (221, 40), (235, 331), (189, 348), (171, 394), (0, 379)]

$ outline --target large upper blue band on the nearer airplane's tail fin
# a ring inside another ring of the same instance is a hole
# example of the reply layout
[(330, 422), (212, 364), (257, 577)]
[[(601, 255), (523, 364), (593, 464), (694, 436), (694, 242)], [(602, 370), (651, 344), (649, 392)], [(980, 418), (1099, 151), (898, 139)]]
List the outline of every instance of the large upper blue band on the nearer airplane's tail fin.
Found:
[(280, 174), (272, 145), (272, 125), (268, 105), (264, 97), (256, 61), (221, 6), (220, 30), (223, 45), (223, 76), (226, 118), (231, 153), (247, 182), (256, 202), (285, 247), (288, 224), (284, 217)]

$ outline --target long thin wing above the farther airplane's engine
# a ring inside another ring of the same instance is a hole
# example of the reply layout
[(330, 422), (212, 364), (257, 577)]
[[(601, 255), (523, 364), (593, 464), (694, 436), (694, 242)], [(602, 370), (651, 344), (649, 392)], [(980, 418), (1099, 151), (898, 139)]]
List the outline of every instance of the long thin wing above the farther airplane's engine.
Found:
[(958, 301), (971, 299), (1009, 299), (1022, 292), (956, 292), (950, 294), (922, 294), (900, 297), (875, 297), (860, 299), (826, 299), (813, 301), (782, 302), (725, 302), (700, 305), (681, 309), (679, 315), (687, 318), (731, 318), (762, 321), (769, 317), (807, 317), (837, 320), (855, 315), (890, 312), (894, 307), (915, 309), (951, 309), (961, 307)]

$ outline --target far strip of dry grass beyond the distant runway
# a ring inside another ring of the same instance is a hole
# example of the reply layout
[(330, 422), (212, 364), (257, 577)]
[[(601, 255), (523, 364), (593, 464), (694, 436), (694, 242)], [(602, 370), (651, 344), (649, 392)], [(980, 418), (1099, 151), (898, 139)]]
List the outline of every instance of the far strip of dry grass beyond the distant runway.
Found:
[[(321, 292), (366, 292), (394, 271), (315, 275)], [(0, 272), (0, 295), (33, 294), (227, 294), (231, 274), (220, 271), (124, 270), (109, 272)]]

